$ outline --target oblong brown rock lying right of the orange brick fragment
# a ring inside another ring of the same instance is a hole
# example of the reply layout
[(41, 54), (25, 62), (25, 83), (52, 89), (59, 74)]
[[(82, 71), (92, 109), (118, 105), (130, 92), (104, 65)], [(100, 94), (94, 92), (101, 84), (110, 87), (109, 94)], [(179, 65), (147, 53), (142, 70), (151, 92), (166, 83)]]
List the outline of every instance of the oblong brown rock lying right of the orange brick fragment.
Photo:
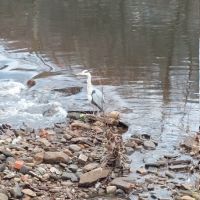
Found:
[(44, 162), (47, 163), (68, 163), (69, 156), (63, 152), (45, 152), (44, 153)]

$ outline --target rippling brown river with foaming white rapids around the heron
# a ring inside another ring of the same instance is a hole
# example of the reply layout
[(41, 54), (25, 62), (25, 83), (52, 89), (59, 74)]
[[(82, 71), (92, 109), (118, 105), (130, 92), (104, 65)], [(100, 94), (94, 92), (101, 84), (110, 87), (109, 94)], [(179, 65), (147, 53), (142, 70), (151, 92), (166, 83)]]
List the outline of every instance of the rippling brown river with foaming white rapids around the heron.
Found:
[[(38, 128), (64, 121), (69, 110), (91, 110), (86, 80), (76, 76), (88, 69), (106, 111), (129, 124), (124, 137), (148, 133), (157, 151), (173, 151), (200, 124), (199, 7), (199, 0), (1, 1), (0, 123)], [(27, 88), (31, 78), (36, 85)]]

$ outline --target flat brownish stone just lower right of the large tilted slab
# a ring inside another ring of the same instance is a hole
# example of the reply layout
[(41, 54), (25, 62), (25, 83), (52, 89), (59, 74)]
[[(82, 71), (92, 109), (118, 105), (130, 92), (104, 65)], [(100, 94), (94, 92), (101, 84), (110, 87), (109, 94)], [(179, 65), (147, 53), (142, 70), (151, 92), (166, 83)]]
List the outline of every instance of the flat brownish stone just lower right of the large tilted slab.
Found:
[(117, 188), (129, 191), (135, 187), (135, 184), (128, 182), (125, 177), (118, 177), (111, 181), (110, 185), (115, 185)]

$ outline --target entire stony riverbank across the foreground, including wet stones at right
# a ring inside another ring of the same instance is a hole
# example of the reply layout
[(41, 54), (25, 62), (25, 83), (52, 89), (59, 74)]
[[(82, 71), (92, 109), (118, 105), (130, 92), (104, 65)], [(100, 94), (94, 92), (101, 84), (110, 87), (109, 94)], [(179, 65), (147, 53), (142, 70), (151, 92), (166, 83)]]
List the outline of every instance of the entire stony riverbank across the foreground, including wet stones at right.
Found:
[(128, 127), (117, 112), (68, 117), (51, 129), (0, 126), (1, 200), (200, 199), (200, 133), (130, 172), (128, 156), (153, 155), (158, 142), (148, 134), (123, 141)]

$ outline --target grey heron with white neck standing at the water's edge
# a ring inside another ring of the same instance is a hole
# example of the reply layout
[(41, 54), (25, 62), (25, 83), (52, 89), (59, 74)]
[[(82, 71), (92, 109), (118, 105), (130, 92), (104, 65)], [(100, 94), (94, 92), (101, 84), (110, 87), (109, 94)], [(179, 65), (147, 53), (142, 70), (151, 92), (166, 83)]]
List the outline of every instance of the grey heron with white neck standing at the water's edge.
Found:
[(88, 70), (83, 70), (81, 73), (78, 73), (77, 75), (81, 76), (87, 76), (87, 97), (90, 103), (95, 105), (97, 108), (99, 108), (100, 111), (103, 111), (103, 103), (105, 102), (104, 100), (104, 95), (103, 93), (95, 88), (92, 85), (92, 76)]

